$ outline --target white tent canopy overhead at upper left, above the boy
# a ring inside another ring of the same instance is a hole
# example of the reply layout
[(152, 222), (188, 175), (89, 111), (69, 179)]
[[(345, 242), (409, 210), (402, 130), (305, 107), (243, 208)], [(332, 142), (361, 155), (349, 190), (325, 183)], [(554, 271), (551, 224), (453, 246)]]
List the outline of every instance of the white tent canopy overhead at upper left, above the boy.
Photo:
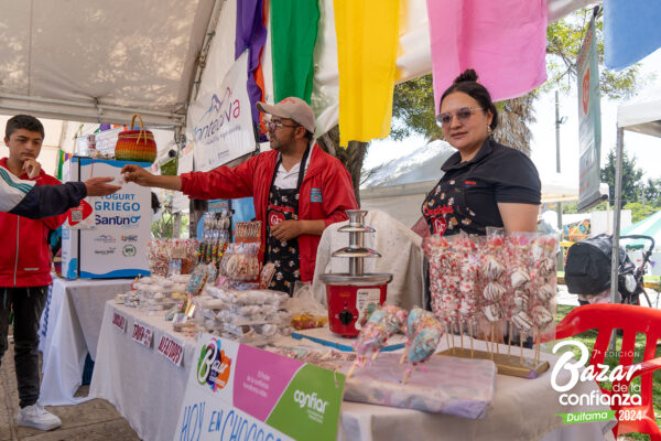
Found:
[(0, 114), (182, 126), (215, 2), (0, 0)]

